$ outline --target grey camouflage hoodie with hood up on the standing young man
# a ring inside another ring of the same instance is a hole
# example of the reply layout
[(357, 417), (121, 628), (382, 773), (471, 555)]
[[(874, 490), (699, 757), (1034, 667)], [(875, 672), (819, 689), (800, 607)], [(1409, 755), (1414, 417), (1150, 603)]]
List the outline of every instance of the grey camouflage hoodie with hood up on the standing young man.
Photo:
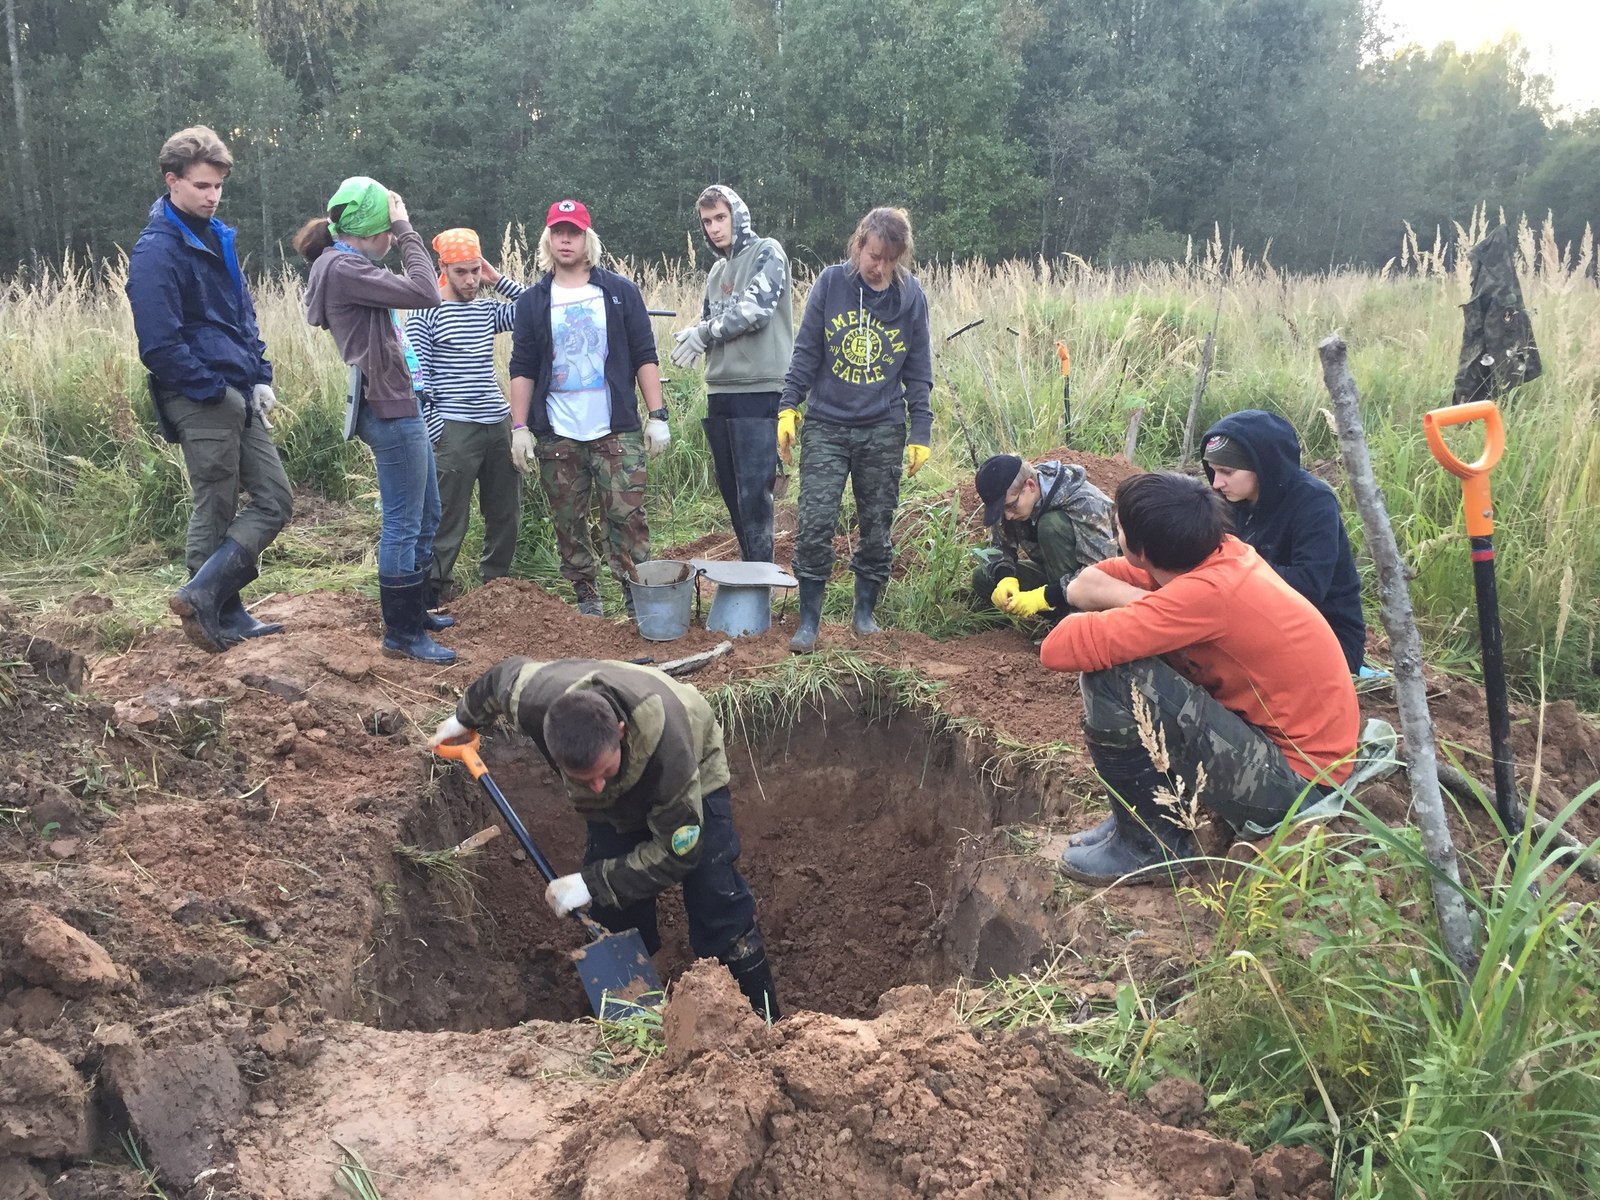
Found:
[(731, 187), (714, 184), (733, 213), (733, 242), (706, 277), (701, 336), (707, 392), (779, 392), (795, 346), (789, 256), (750, 229), (750, 210)]

